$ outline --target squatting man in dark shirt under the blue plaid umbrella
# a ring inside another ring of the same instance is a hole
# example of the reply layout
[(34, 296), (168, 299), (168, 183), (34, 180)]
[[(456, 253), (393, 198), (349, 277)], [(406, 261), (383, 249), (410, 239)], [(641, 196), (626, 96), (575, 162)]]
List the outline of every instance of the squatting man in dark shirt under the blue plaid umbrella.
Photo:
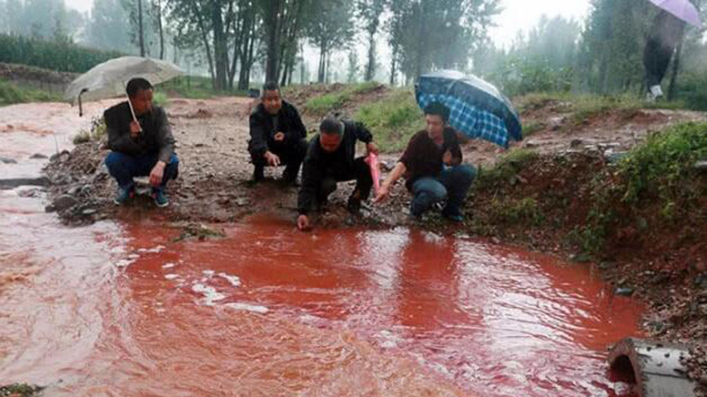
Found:
[(375, 201), (387, 198), (390, 187), (405, 177), (405, 186), (414, 198), (410, 214), (419, 218), (434, 203), (447, 198), (442, 215), (461, 222), (462, 203), (474, 181), (476, 170), (462, 164), (462, 150), (454, 129), (447, 126), (449, 109), (433, 102), (424, 109), (427, 128), (415, 134), (395, 168), (378, 189)]

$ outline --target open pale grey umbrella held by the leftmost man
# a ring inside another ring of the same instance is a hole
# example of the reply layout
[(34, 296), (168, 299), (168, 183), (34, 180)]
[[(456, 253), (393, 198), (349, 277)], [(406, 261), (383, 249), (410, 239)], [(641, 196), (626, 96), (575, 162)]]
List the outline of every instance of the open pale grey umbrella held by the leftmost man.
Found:
[(182, 74), (183, 72), (174, 64), (159, 59), (115, 58), (78, 76), (64, 91), (64, 100), (72, 104), (78, 102), (79, 112), (81, 112), (81, 100), (126, 96), (125, 87), (132, 78), (141, 77), (152, 84), (159, 84)]

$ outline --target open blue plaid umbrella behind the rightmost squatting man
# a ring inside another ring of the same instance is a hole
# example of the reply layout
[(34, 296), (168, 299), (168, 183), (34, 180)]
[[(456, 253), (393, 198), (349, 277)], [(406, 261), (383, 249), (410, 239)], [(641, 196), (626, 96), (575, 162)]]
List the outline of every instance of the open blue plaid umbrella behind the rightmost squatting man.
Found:
[(437, 71), (420, 76), (415, 84), (417, 104), (424, 109), (442, 102), (450, 109), (449, 124), (469, 138), (481, 138), (508, 148), (520, 141), (522, 127), (510, 101), (496, 87), (458, 71)]

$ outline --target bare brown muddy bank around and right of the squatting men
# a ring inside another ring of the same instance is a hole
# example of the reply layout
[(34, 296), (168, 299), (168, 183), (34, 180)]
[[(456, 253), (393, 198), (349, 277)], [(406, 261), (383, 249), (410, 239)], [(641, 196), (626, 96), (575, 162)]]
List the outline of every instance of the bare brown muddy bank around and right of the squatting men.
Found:
[[(317, 88), (324, 90), (321, 93), (332, 89)], [(308, 97), (321, 93), (315, 90), (293, 92), (292, 102), (301, 107)], [(373, 90), (370, 98), (358, 100), (371, 100), (385, 93), (386, 89), (380, 88)], [(49, 188), (52, 197), (63, 197), (63, 202), (59, 200), (54, 206), (58, 208), (48, 208), (49, 211), (58, 211), (59, 216), (72, 225), (103, 218), (132, 217), (135, 213), (178, 225), (238, 222), (247, 215), (268, 213), (291, 220), (295, 227), (297, 189), (279, 184), (281, 169), (267, 169), (268, 180), (264, 183), (250, 182), (247, 117), (253, 105), (252, 99), (240, 97), (170, 101), (168, 114), (178, 142), (180, 177), (169, 186), (172, 201), (169, 208), (155, 208), (147, 196), (136, 198), (128, 206), (114, 206), (115, 182), (102, 165), (107, 154), (105, 143), (90, 142), (54, 156), (45, 170), (52, 180)], [(539, 160), (514, 174), (503, 186), (473, 189), (464, 225), (448, 225), (435, 213), (417, 226), (465, 232), (498, 244), (520, 244), (575, 261), (592, 259), (617, 291), (629, 291), (648, 303), (644, 326), (649, 336), (704, 346), (707, 343), (707, 246), (704, 243), (707, 228), (701, 220), (670, 230), (673, 237), (662, 236), (661, 232), (665, 234), (666, 230), (655, 230), (640, 239), (617, 239), (602, 256), (592, 258), (578, 254), (578, 247), (568, 242), (568, 236), (583, 224), (592, 204), (588, 186), (595, 175), (607, 172), (612, 156), (666, 126), (706, 121), (705, 114), (658, 109), (609, 110), (577, 119), (558, 101), (523, 109), (524, 124), (534, 124), (535, 131), (513, 147), (542, 153)], [(305, 124), (314, 128), (317, 117), (308, 114), (305, 108), (302, 110)], [(503, 153), (504, 150), (485, 142), (464, 144), (465, 161), (484, 169), (497, 162)], [(384, 177), (398, 156), (399, 153), (382, 155)], [(409, 194), (402, 182), (385, 205), (366, 203), (361, 216), (356, 218), (344, 209), (351, 190), (353, 182), (340, 184), (327, 212), (315, 215), (315, 227), (394, 227), (410, 223), (407, 217)], [(548, 196), (551, 199), (547, 199)], [(506, 198), (533, 198), (540, 207), (530, 214), (510, 214), (520, 216), (516, 219), (498, 211), (498, 203)], [(525, 219), (537, 213), (551, 221), (536, 225), (532, 219)], [(631, 235), (631, 230), (626, 233), (629, 237), (636, 234), (634, 231)], [(691, 233), (691, 238), (679, 237), (680, 233)], [(704, 357), (698, 357), (690, 367), (693, 376), (707, 384)]]

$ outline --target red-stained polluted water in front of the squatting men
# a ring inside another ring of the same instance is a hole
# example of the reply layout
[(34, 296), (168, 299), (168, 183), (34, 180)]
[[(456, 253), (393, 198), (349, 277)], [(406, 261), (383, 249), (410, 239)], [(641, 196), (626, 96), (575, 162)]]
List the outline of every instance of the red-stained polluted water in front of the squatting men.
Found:
[(585, 266), (420, 230), (255, 218), (173, 242), (0, 195), (0, 384), (47, 396), (621, 396), (641, 305)]

